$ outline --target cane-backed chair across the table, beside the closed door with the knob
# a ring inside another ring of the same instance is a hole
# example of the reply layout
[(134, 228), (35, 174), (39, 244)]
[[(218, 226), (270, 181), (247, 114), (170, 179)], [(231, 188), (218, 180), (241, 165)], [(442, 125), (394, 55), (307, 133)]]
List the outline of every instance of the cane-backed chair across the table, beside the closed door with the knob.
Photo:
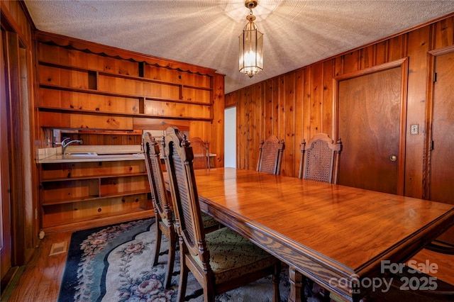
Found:
[(341, 152), (341, 139), (335, 144), (326, 133), (314, 135), (307, 145), (303, 140), (298, 177), (336, 184)]

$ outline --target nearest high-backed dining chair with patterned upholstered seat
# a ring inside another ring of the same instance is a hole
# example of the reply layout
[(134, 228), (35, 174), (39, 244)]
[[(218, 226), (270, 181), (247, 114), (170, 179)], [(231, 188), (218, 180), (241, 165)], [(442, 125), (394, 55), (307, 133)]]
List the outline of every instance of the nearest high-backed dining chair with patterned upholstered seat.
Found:
[(172, 203), (180, 245), (180, 276), (177, 301), (184, 301), (189, 271), (201, 285), (204, 301), (216, 294), (272, 275), (279, 301), (280, 262), (229, 228), (205, 233), (201, 222), (193, 152), (190, 142), (175, 127), (167, 128), (162, 141), (170, 179)]

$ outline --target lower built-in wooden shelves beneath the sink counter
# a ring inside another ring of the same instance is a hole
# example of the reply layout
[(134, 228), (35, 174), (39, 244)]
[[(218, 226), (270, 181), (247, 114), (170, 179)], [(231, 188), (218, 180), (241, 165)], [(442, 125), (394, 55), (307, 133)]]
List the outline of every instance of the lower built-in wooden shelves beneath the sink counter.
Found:
[(145, 160), (40, 163), (42, 228), (153, 210)]

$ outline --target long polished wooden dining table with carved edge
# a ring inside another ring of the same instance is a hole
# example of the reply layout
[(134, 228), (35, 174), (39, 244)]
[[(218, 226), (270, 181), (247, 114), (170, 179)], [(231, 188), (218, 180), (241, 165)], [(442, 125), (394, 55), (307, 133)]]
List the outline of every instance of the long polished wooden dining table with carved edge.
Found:
[(358, 301), (454, 224), (446, 203), (244, 169), (195, 177), (202, 211), (288, 264), (289, 301), (303, 276)]

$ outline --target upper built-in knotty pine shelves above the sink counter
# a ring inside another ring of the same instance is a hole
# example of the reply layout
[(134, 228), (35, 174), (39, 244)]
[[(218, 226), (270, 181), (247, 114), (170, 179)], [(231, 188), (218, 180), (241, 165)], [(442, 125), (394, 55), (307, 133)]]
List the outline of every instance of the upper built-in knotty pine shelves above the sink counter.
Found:
[[(38, 108), (53, 113), (213, 121), (212, 81), (209, 84), (203, 81), (198, 86), (150, 79), (143, 75), (143, 67), (140, 70), (141, 75), (120, 74), (39, 60), (38, 74), (41, 76), (38, 81), (40, 89), (44, 90), (40, 92)], [(50, 94), (47, 89), (65, 91), (67, 94)], [(87, 96), (114, 100), (92, 99), (81, 102)], [(123, 107), (110, 106), (112, 101), (126, 103)], [(106, 102), (109, 104), (106, 105)], [(72, 120), (67, 117), (62, 119)], [(74, 128), (80, 127), (76, 125)]]

